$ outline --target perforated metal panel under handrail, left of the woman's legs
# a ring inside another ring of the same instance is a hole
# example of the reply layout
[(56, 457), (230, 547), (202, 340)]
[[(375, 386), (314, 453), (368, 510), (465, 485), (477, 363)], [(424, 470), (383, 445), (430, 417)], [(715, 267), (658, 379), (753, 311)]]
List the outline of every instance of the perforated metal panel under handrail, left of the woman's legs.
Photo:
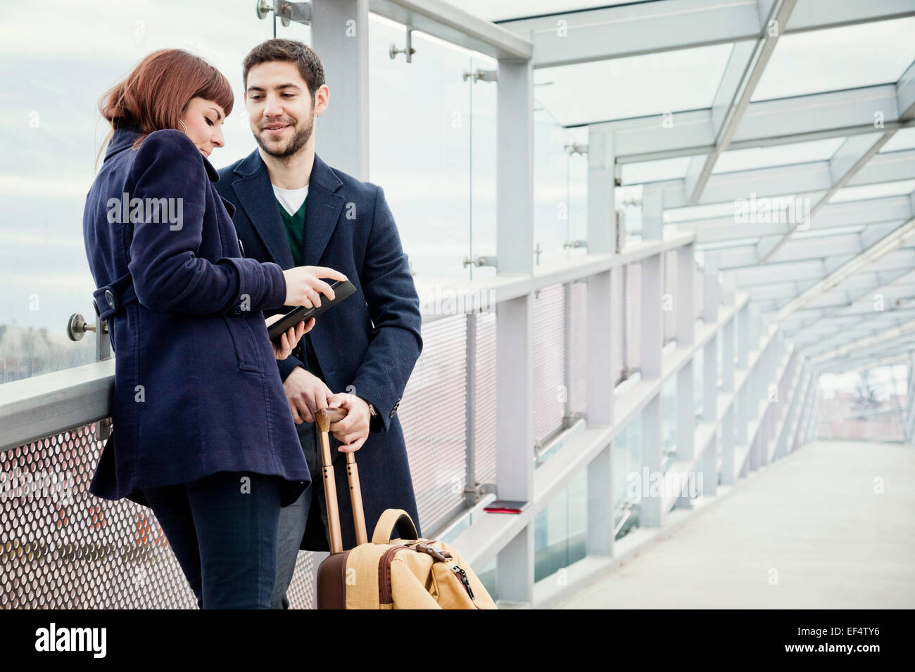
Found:
[(196, 607), (152, 509), (89, 493), (101, 453), (94, 424), (0, 453), (0, 608)]

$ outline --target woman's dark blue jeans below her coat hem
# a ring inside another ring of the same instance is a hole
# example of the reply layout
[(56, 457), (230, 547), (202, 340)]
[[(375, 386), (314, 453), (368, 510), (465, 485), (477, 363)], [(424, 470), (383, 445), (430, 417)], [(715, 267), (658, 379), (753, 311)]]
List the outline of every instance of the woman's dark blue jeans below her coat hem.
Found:
[(222, 472), (143, 494), (201, 609), (270, 608), (279, 479)]

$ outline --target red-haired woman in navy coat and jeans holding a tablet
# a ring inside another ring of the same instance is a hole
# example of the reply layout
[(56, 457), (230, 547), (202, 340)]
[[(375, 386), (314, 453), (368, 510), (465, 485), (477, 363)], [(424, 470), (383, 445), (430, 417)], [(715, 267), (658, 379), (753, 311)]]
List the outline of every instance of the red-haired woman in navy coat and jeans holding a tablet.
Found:
[(83, 238), (116, 357), (90, 492), (153, 509), (201, 608), (269, 608), (280, 507), (311, 482), (274, 359), (314, 318), (274, 345), (262, 310), (346, 277), (243, 258), (207, 158), (232, 109), (209, 63), (156, 51), (99, 107), (113, 133)]

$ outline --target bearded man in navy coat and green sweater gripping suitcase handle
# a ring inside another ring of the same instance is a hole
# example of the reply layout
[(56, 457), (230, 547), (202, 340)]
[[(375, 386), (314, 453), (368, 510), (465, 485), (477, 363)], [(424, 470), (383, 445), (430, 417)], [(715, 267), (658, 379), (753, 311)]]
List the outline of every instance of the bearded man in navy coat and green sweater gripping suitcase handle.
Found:
[(318, 409), (346, 413), (330, 425), (343, 548), (355, 546), (356, 539), (341, 444), (359, 451), (369, 539), (386, 508), (403, 508), (419, 531), (395, 412), (423, 341), (419, 296), (382, 188), (329, 167), (315, 154), (316, 119), (329, 100), (318, 55), (296, 40), (270, 39), (244, 59), (242, 80), (259, 146), (222, 168), (216, 183), (235, 209), (242, 254), (284, 269), (326, 266), (356, 286), (354, 295), (318, 317), (290, 357), (277, 362), (314, 483), (281, 510), (272, 606), (288, 608), (285, 592), (297, 551), (329, 550), (314, 425)]

